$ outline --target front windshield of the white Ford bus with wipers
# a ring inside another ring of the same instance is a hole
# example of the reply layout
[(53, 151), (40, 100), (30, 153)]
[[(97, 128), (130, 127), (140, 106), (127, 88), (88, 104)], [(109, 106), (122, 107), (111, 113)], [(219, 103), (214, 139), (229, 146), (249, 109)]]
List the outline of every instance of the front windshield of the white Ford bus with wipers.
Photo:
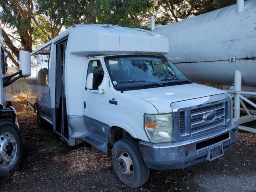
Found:
[(191, 83), (164, 56), (118, 55), (104, 58), (116, 90), (135, 90)]

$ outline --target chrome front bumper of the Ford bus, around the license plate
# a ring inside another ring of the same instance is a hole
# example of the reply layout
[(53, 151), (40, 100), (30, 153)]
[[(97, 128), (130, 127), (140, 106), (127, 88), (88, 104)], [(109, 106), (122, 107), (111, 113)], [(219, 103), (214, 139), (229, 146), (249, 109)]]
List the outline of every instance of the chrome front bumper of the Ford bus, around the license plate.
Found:
[[(224, 151), (231, 148), (237, 140), (236, 123), (223, 126), (218, 132), (190, 138), (190, 140), (150, 143), (140, 141), (140, 151), (148, 168), (156, 170), (179, 169), (206, 160), (208, 148), (223, 144)], [(192, 140), (193, 139), (193, 140)]]

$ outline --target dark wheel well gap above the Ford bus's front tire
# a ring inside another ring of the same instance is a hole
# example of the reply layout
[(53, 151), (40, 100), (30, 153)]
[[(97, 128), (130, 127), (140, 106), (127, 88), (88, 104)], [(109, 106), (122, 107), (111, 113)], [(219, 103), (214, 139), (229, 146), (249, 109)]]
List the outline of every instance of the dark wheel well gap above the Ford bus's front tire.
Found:
[(117, 126), (112, 126), (110, 128), (109, 134), (108, 134), (108, 141), (109, 144), (113, 145), (115, 142), (122, 138), (134, 138), (131, 136), (130, 133), (128, 133), (126, 130), (123, 128), (117, 127)]

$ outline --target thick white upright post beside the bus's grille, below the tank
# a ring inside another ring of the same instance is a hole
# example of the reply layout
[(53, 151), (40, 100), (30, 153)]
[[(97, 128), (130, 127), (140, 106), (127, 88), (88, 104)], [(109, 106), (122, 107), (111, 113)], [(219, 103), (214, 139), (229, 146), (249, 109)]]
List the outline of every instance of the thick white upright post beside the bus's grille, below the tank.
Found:
[(234, 121), (240, 119), (240, 91), (242, 89), (242, 74), (239, 70), (235, 70), (235, 84), (234, 84)]

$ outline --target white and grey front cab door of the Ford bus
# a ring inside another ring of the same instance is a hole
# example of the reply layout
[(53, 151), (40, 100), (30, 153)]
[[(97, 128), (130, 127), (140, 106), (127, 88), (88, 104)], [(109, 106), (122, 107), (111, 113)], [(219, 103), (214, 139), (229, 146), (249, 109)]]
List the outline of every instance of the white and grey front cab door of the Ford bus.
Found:
[[(109, 80), (103, 63), (102, 58), (92, 58), (88, 61), (88, 68), (85, 75), (87, 78), (89, 74), (93, 74), (93, 89), (87, 89), (85, 82), (82, 104), (84, 108), (84, 124), (89, 132), (84, 137), (84, 140), (104, 151), (104, 148), (106, 148), (106, 136), (109, 130), (109, 122), (105, 118), (106, 113), (109, 112)], [(107, 79), (107, 89), (105, 93), (99, 93), (98, 87), (102, 83), (104, 75)]]

